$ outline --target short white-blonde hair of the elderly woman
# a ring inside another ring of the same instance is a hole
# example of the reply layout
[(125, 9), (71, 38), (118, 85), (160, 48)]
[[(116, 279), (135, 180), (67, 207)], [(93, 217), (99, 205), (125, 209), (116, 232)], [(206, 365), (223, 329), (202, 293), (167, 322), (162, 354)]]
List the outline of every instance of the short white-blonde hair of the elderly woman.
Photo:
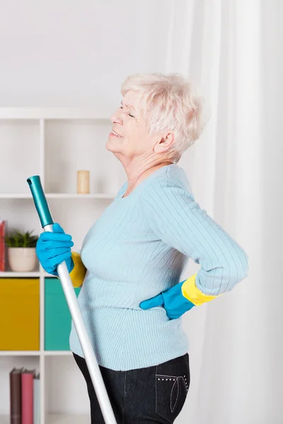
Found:
[(129, 90), (142, 95), (149, 134), (173, 131), (175, 141), (168, 158), (177, 163), (206, 124), (204, 102), (197, 88), (180, 73), (136, 73), (122, 83), (122, 95)]

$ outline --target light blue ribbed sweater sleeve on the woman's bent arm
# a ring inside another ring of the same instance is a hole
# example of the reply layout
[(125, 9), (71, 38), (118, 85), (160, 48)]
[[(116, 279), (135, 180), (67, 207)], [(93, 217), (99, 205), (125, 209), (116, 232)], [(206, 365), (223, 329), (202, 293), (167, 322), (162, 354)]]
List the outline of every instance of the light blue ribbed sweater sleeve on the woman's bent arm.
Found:
[(205, 295), (220, 295), (248, 276), (248, 255), (171, 177), (141, 194), (144, 218), (158, 239), (200, 264), (195, 278)]

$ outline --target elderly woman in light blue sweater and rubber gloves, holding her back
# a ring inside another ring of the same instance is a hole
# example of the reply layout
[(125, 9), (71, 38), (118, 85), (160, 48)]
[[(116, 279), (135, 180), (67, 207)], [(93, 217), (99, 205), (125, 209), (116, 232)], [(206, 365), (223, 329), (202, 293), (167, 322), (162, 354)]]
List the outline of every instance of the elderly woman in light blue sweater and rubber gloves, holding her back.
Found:
[[(183, 152), (202, 131), (202, 100), (178, 74), (129, 76), (106, 148), (127, 174), (90, 228), (80, 254), (59, 224), (43, 232), (37, 257), (57, 276), (67, 261), (117, 423), (173, 423), (190, 386), (181, 317), (248, 274), (246, 252), (195, 201)], [(192, 258), (200, 270), (180, 276)], [(104, 423), (74, 325), (70, 348)]]

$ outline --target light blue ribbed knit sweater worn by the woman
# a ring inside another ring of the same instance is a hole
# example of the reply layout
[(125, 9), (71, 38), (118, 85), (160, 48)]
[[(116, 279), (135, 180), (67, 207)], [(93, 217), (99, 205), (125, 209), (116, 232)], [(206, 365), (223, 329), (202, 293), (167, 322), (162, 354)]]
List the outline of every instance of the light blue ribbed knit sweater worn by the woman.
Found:
[[(189, 258), (200, 264), (196, 285), (207, 295), (231, 290), (248, 272), (246, 253), (200, 208), (181, 167), (159, 168), (122, 198), (126, 189), (127, 182), (81, 249), (87, 272), (79, 306), (98, 363), (112, 370), (149, 367), (188, 351), (181, 318), (139, 303), (179, 283)], [(83, 357), (73, 322), (70, 348)]]

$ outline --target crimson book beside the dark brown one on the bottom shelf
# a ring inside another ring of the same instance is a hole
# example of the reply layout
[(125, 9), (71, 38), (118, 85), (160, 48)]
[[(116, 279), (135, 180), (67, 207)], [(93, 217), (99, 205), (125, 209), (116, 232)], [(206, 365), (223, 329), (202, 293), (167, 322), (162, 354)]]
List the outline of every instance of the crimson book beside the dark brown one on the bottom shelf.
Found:
[(35, 370), (22, 371), (22, 422), (33, 424), (33, 377)]

